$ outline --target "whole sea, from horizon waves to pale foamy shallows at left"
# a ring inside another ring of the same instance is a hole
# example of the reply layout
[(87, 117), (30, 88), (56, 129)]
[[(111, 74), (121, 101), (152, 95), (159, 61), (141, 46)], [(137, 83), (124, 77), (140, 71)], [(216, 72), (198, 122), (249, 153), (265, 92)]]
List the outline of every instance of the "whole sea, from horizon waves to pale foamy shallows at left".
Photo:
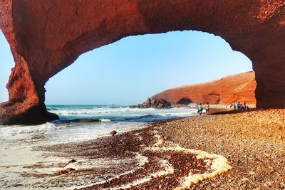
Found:
[[(146, 127), (148, 122), (197, 115), (196, 109), (187, 107), (142, 109), (124, 105), (48, 105), (47, 110), (56, 113), (60, 119), (43, 125), (0, 125), (0, 189), (65, 189), (71, 186), (67, 181), (60, 188), (53, 188), (48, 185), (48, 178), (28, 175), (56, 171), (53, 167), (31, 167), (39, 163), (56, 165), (59, 162), (68, 162), (68, 159), (38, 151), (37, 147), (81, 142), (104, 137), (111, 130), (118, 133), (128, 132)], [(86, 163), (96, 164), (92, 161)], [(100, 178), (97, 180), (100, 182)], [(73, 180), (72, 186), (76, 186), (74, 183)]]

